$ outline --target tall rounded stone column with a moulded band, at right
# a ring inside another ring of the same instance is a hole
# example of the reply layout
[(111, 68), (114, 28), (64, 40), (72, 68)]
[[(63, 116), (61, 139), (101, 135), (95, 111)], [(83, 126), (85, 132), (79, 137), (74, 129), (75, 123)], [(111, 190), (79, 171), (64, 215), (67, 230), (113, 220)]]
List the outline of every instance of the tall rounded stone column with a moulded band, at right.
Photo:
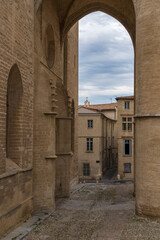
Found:
[(136, 212), (160, 216), (160, 2), (137, 0)]

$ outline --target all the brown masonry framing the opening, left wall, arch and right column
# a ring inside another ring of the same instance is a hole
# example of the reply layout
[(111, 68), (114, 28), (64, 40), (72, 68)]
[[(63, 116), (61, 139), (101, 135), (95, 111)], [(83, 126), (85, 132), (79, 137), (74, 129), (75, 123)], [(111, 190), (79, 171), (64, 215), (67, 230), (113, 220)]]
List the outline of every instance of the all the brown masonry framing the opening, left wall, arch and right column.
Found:
[(54, 209), (77, 181), (78, 29), (69, 30), (93, 11), (133, 41), (136, 212), (160, 216), (159, 1), (0, 0), (0, 235)]

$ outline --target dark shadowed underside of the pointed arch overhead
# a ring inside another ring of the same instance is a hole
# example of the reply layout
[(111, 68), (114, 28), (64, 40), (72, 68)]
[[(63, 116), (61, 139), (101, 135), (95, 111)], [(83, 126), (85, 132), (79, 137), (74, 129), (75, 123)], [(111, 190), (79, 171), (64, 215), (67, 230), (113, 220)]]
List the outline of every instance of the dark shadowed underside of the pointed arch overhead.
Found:
[(72, 1), (61, 22), (62, 39), (78, 20), (95, 11), (102, 11), (117, 19), (130, 34), (133, 44), (135, 43), (135, 9), (132, 0)]

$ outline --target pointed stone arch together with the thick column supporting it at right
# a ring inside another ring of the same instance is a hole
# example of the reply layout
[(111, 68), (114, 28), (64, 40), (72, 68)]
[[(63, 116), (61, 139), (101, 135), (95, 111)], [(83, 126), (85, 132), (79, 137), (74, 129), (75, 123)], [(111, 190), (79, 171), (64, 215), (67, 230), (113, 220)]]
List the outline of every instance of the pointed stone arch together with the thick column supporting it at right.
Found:
[[(36, 3), (38, 2), (41, 1), (37, 0)], [(52, 72), (48, 71), (45, 61), (41, 65), (48, 76), (51, 76), (50, 79), (55, 79), (55, 82), (57, 77), (63, 81), (63, 40), (69, 29), (80, 18), (100, 10), (115, 17), (128, 30), (135, 46), (136, 56), (136, 209), (138, 214), (160, 216), (160, 7), (158, 0), (154, 3), (150, 0), (45, 0), (44, 2), (46, 4), (44, 10), (48, 12), (43, 15), (42, 27), (51, 22), (54, 25), (57, 58)], [(40, 61), (42, 63), (43, 56)], [(35, 69), (38, 69), (37, 66)], [(44, 204), (43, 201), (39, 202)]]

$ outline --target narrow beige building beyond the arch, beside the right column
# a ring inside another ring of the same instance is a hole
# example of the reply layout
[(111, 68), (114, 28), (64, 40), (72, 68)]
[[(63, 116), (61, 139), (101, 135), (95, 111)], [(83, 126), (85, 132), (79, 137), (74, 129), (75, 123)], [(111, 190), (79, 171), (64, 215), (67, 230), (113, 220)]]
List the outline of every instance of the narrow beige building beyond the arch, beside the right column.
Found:
[(134, 97), (118, 97), (118, 178), (134, 178)]

